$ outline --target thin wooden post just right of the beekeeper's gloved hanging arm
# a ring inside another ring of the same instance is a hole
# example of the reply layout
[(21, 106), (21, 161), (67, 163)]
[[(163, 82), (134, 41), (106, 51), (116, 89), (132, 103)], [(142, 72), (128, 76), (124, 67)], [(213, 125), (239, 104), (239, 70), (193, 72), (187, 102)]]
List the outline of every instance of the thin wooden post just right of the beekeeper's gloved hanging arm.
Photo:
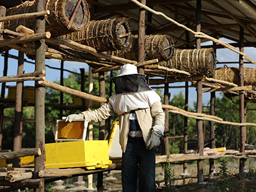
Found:
[[(164, 104), (169, 104), (169, 83), (164, 84)], [(169, 154), (169, 110), (164, 109), (164, 153)]]

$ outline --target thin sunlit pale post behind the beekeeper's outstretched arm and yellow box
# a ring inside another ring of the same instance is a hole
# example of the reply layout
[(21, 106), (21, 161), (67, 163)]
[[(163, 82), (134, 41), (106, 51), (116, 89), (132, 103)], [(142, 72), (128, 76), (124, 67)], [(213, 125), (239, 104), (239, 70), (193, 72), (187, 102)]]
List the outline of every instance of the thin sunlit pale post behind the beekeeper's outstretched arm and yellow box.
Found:
[[(93, 6), (94, 7), (94, 6)], [(92, 67), (89, 66), (88, 69), (88, 93), (92, 95), (93, 93), (93, 76), (92, 76)], [(92, 100), (88, 100), (88, 111), (92, 111)], [(88, 125), (88, 140), (93, 140), (93, 124), (92, 122)], [(93, 189), (93, 175), (90, 174), (87, 177), (88, 179), (88, 189)]]

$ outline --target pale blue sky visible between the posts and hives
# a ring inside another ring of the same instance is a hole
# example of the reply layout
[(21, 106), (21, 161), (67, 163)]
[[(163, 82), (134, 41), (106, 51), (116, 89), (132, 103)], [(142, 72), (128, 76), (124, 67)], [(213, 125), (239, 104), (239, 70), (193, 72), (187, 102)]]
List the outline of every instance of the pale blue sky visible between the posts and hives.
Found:
[[(221, 39), (220, 39), (221, 40)], [(228, 42), (225, 39), (222, 39), (226, 42)], [(231, 43), (231, 42), (228, 42)], [(207, 43), (205, 43), (207, 44)], [(203, 45), (205, 45), (203, 44)], [(208, 43), (209, 44), (209, 43)], [(252, 60), (256, 60), (256, 48), (254, 47), (246, 47), (244, 48), (244, 52), (247, 54), (248, 58)], [(10, 54), (13, 54), (15, 56), (18, 56), (18, 51), (12, 49), (9, 51)], [(224, 62), (224, 61), (238, 61), (239, 60), (239, 55), (233, 51), (230, 51), (229, 49), (218, 49), (216, 52), (217, 55), (217, 60), (219, 62)], [(25, 56), (26, 58), (26, 56)], [(246, 60), (244, 60), (246, 61)], [(3, 68), (4, 68), (4, 57), (0, 56), (0, 76), (3, 76)], [(57, 67), (60, 68), (60, 60), (45, 60), (45, 64), (50, 65), (51, 67)], [(255, 67), (256, 64), (244, 64), (244, 67)], [(223, 67), (223, 65), (217, 65), (217, 67)], [(235, 65), (230, 65), (228, 64), (228, 67), (239, 67), (238, 64)], [(76, 72), (80, 72), (79, 68), (84, 68), (86, 71), (88, 71), (88, 65), (86, 63), (79, 63), (79, 62), (70, 62), (70, 61), (65, 61), (64, 62), (64, 68), (68, 70), (73, 70)], [(34, 72), (35, 71), (35, 65), (31, 63), (24, 63), (24, 72)], [(12, 58), (9, 58), (8, 60), (8, 76), (14, 76), (17, 75), (17, 60), (14, 60)], [(64, 72), (64, 77), (68, 76), (68, 72)], [(46, 79), (49, 81), (60, 81), (60, 70), (54, 70), (52, 68), (46, 67)], [(191, 83), (189, 83), (190, 85)], [(6, 83), (6, 86), (15, 86), (16, 83), (10, 82)], [(170, 84), (170, 86), (184, 86), (185, 83), (173, 83)], [(0, 83), (1, 86), (1, 83)], [(34, 81), (25, 81), (24, 86), (34, 86)], [(171, 93), (171, 98), (173, 98), (174, 95), (177, 95), (179, 92), (185, 92), (184, 88), (171, 88), (170, 93)], [(6, 90), (6, 95), (8, 93), (8, 90)], [(220, 95), (220, 92), (216, 92), (216, 95)], [(203, 102), (204, 104), (207, 104), (210, 99), (210, 93), (203, 93)], [(195, 88), (189, 88), (189, 106), (192, 108), (193, 107), (193, 102), (196, 102), (196, 90)]]

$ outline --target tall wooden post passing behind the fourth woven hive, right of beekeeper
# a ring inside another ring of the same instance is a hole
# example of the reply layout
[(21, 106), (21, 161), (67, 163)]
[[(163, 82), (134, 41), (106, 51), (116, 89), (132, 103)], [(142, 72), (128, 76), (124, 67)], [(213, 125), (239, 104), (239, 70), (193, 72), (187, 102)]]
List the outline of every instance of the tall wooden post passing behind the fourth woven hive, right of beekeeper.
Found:
[[(196, 0), (196, 32), (201, 31), (201, 0)], [(196, 38), (196, 49), (200, 49), (201, 40)], [(202, 113), (202, 80), (197, 81), (196, 93), (197, 93), (197, 102), (196, 102), (196, 112)], [(196, 120), (197, 135), (198, 135), (198, 153), (200, 156), (204, 156), (204, 131), (203, 131), (203, 121)], [(197, 182), (204, 182), (204, 161), (197, 161)]]

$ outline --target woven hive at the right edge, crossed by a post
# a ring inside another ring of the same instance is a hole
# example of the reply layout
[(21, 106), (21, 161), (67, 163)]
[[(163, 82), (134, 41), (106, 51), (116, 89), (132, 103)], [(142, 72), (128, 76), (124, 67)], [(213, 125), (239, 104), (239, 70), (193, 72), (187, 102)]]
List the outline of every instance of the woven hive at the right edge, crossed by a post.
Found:
[[(240, 84), (239, 68), (223, 67), (216, 68), (215, 79)], [(244, 85), (256, 85), (256, 68), (244, 67)]]

